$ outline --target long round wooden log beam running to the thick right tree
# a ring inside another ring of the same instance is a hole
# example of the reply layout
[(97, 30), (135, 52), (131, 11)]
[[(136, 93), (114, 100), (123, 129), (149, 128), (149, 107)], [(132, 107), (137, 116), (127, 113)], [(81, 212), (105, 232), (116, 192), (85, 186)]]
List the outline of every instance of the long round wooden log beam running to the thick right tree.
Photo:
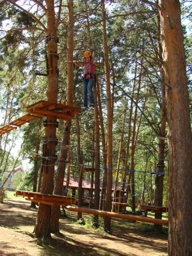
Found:
[(153, 223), (153, 224), (157, 224), (157, 225), (168, 226), (168, 220), (159, 220), (159, 219), (143, 217), (143, 216), (122, 214), (122, 213), (108, 212), (108, 211), (99, 211), (99, 210), (95, 210), (95, 209), (87, 209), (87, 208), (80, 208), (80, 207), (77, 208), (77, 207), (72, 207), (72, 206), (68, 206), (67, 209), (69, 211), (102, 215), (102, 216), (106, 216), (109, 218), (119, 218), (119, 219), (124, 219), (124, 220), (141, 221), (141, 222)]

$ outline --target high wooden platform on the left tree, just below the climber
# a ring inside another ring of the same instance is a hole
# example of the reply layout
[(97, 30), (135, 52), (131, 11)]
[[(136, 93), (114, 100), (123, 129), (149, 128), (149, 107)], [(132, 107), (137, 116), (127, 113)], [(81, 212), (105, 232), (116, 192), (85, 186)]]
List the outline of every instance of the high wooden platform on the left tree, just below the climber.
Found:
[(31, 115), (54, 116), (60, 120), (70, 120), (74, 115), (81, 112), (80, 108), (59, 103), (52, 103), (47, 100), (40, 100), (27, 107)]

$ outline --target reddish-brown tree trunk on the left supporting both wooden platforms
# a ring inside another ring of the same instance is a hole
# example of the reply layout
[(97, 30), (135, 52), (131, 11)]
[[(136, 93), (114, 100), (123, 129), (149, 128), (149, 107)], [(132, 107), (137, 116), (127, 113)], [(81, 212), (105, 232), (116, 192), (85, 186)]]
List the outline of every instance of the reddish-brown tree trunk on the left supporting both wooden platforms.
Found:
[[(57, 47), (57, 28), (54, 13), (54, 1), (46, 0), (47, 6), (47, 78), (48, 91), (47, 100), (52, 103), (57, 102), (58, 97), (58, 47)], [(43, 160), (42, 190), (44, 194), (52, 195), (54, 186), (54, 164), (56, 148), (56, 118), (47, 118), (45, 127), (44, 157), (49, 157), (49, 161)], [(40, 204), (36, 219), (36, 237), (51, 239), (51, 205)]]

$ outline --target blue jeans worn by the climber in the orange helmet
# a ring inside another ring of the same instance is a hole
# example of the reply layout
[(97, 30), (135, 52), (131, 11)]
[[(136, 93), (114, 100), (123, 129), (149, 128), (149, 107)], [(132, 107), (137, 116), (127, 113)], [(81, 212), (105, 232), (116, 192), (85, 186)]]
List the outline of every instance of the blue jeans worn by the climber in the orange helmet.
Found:
[(93, 86), (95, 84), (95, 79), (91, 77), (90, 79), (83, 80), (83, 106), (88, 108), (88, 95), (90, 98), (90, 104), (94, 103), (94, 95), (93, 95)]

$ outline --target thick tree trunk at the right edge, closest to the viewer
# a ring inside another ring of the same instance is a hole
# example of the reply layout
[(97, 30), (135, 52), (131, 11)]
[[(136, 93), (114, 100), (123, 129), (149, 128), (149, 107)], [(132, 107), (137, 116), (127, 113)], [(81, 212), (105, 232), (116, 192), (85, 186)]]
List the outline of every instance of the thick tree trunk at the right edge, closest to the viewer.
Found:
[(179, 1), (159, 0), (169, 148), (169, 255), (192, 255), (192, 136)]

